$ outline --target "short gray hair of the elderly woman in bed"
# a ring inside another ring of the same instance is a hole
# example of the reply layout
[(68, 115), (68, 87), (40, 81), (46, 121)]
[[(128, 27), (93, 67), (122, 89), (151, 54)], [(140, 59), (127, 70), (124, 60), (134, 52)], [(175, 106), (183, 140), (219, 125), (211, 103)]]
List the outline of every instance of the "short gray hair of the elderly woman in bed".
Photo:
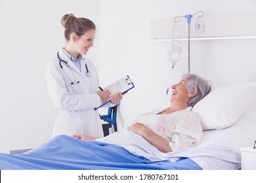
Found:
[(188, 106), (194, 107), (198, 101), (211, 92), (211, 83), (209, 80), (205, 80), (204, 78), (194, 74), (185, 74), (183, 75), (183, 78), (186, 78), (187, 80), (186, 89), (188, 92), (197, 92), (196, 95), (188, 101)]

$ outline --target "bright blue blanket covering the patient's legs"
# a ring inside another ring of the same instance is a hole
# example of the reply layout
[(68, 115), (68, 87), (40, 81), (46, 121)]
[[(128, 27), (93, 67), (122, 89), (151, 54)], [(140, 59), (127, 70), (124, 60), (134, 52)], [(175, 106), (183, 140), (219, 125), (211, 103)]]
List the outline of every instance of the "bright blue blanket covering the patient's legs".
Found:
[(66, 135), (23, 154), (0, 154), (0, 169), (4, 170), (77, 170), (77, 169), (201, 169), (189, 158), (176, 162), (150, 161), (135, 156), (114, 144), (81, 141)]

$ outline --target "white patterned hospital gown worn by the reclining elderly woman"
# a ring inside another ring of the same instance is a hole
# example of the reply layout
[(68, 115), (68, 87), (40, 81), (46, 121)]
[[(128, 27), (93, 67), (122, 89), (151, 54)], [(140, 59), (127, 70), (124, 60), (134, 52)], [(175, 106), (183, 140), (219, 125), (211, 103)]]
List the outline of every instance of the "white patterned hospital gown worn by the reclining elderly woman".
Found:
[(158, 114), (163, 110), (153, 110), (140, 114), (134, 122), (140, 122), (169, 141), (173, 151), (191, 148), (198, 144), (203, 131), (200, 118), (191, 112), (192, 107), (171, 114)]

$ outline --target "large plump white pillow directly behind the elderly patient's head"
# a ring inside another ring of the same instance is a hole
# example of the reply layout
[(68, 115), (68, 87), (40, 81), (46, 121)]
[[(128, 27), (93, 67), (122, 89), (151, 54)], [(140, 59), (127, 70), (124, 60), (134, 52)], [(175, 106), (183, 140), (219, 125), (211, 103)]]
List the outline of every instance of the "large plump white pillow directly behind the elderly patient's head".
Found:
[(234, 124), (256, 97), (256, 82), (222, 86), (196, 103), (203, 130), (224, 129)]

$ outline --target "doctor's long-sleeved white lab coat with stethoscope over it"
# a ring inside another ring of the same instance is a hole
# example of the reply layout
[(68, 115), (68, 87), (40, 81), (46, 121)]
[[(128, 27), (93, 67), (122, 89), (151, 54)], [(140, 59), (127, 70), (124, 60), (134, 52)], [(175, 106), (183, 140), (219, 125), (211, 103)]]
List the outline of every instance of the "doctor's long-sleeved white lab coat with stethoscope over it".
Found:
[[(53, 137), (78, 133), (103, 137), (102, 122), (98, 110), (95, 110), (95, 107), (101, 104), (100, 96), (96, 94), (99, 79), (95, 65), (83, 56), (80, 72), (62, 50), (59, 51), (59, 56), (67, 61), (70, 67), (62, 61), (63, 69), (61, 69), (59, 59), (56, 56), (49, 61), (45, 71), (49, 93), (54, 106), (59, 110), (53, 129)], [(87, 63), (91, 77), (85, 75), (87, 73), (85, 63)], [(105, 107), (112, 106), (114, 105), (108, 103)]]

